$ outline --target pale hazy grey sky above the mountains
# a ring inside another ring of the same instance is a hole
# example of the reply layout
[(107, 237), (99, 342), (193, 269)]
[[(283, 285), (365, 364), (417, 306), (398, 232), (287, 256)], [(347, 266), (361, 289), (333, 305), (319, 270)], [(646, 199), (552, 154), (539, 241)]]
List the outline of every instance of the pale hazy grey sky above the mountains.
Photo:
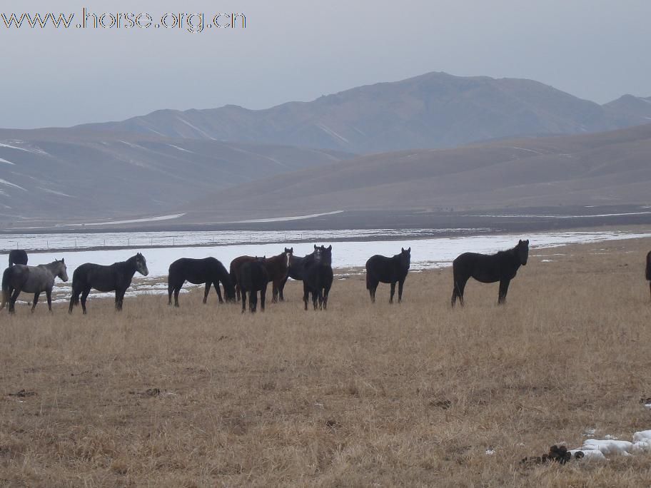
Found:
[(6, 29), (0, 18), (0, 127), (266, 108), (428, 71), (531, 78), (599, 103), (651, 96), (649, 0), (2, 0), (0, 14), (61, 11), (77, 24), (84, 6), (154, 21), (238, 12), (246, 29)]

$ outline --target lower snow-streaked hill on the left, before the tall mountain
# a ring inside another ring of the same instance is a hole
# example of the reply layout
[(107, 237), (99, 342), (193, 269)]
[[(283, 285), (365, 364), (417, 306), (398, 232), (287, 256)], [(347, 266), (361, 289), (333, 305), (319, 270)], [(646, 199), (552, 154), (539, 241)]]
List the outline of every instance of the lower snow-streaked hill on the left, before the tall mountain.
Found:
[(79, 128), (0, 130), (0, 226), (160, 214), (221, 188), (345, 157)]

